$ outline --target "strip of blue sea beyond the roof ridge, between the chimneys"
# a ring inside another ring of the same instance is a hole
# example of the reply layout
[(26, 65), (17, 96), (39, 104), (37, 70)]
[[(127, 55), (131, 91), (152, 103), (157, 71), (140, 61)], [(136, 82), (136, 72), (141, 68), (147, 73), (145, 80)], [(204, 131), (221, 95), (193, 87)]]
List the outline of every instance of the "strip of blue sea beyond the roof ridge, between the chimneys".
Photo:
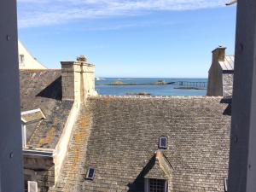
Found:
[(96, 90), (102, 96), (127, 96), (130, 92), (148, 92), (151, 96), (206, 96), (204, 90), (175, 89), (185, 87), (181, 84), (166, 85), (102, 85), (121, 81), (124, 84), (150, 84), (158, 81), (170, 82), (207, 82), (207, 79), (166, 79), (166, 78), (96, 78)]

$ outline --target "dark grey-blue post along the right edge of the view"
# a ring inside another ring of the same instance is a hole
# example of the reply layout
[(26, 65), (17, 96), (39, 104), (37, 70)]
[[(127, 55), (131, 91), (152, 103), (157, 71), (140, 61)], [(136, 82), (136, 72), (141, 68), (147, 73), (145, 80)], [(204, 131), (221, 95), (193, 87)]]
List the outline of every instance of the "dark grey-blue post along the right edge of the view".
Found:
[(238, 0), (229, 192), (256, 191), (256, 1)]

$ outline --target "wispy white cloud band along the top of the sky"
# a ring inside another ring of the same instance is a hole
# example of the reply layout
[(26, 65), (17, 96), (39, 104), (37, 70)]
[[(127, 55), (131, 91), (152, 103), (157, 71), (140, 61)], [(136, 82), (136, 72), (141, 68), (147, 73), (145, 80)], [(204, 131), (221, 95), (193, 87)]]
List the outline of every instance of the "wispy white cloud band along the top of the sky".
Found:
[(224, 6), (224, 3), (225, 0), (18, 0), (19, 27), (160, 10), (207, 9)]

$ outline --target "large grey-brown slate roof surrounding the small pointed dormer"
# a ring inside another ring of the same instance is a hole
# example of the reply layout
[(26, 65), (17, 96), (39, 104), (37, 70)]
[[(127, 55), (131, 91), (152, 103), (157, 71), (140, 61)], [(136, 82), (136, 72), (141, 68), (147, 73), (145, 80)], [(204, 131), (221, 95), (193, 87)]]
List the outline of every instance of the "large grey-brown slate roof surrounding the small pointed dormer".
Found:
[[(60, 180), (51, 191), (141, 192), (145, 167), (161, 136), (168, 137), (163, 154), (173, 167), (173, 191), (224, 191), (230, 103), (221, 97), (191, 96), (91, 97), (79, 115)], [(84, 180), (90, 166), (96, 168), (95, 178)], [(154, 166), (148, 175), (152, 172)]]

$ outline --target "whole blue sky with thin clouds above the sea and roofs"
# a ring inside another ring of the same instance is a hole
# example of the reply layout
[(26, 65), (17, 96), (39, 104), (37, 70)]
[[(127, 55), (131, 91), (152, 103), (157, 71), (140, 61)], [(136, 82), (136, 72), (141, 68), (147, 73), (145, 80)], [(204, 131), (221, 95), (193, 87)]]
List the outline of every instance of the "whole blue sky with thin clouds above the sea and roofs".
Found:
[(234, 54), (225, 0), (18, 0), (19, 38), (49, 68), (87, 55), (97, 77), (207, 78), (212, 49)]

